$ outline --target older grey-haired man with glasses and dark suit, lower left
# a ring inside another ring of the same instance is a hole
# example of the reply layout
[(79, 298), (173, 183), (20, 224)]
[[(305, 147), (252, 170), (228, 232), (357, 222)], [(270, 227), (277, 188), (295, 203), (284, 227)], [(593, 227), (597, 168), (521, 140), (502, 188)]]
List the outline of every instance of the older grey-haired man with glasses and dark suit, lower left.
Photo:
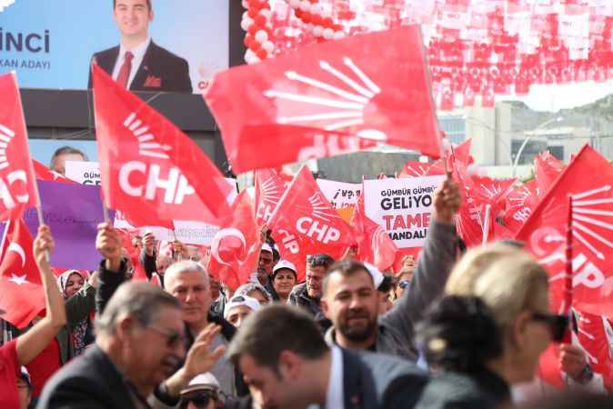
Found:
[(105, 306), (95, 345), (49, 380), (37, 408), (146, 407), (146, 395), (175, 372), (185, 345), (181, 306), (173, 296), (130, 283)]

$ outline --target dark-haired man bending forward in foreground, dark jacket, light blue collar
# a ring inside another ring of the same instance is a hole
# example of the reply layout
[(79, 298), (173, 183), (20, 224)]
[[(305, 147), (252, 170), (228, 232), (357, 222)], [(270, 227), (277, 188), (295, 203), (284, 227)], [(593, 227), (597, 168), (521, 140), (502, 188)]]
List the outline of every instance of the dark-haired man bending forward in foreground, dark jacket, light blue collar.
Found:
[(227, 354), (256, 403), (276, 409), (410, 409), (427, 382), (402, 359), (329, 348), (307, 313), (282, 304), (250, 314)]

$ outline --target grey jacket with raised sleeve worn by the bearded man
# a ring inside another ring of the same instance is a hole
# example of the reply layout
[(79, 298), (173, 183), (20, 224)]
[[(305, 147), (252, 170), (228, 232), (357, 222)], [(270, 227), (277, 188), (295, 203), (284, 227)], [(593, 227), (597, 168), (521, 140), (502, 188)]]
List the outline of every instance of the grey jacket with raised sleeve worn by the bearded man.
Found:
[[(411, 284), (394, 307), (378, 318), (377, 352), (417, 362), (413, 326), (421, 321), (427, 306), (443, 293), (456, 261), (456, 240), (453, 225), (431, 222)], [(326, 341), (336, 343), (334, 328), (327, 331)]]

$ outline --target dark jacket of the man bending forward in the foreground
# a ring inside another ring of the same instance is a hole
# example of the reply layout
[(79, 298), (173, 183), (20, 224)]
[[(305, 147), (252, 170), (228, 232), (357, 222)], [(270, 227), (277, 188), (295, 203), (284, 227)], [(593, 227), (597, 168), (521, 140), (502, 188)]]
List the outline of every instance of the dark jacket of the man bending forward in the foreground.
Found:
[(342, 352), (345, 409), (410, 409), (427, 384), (427, 374), (396, 356)]

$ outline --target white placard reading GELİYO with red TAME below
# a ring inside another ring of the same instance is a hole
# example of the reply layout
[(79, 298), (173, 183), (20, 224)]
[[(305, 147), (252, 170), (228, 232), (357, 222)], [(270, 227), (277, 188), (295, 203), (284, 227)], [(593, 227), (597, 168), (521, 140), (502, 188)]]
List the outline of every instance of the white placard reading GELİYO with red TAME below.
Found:
[(434, 192), (444, 175), (364, 181), (367, 216), (398, 248), (420, 247), (426, 239)]

